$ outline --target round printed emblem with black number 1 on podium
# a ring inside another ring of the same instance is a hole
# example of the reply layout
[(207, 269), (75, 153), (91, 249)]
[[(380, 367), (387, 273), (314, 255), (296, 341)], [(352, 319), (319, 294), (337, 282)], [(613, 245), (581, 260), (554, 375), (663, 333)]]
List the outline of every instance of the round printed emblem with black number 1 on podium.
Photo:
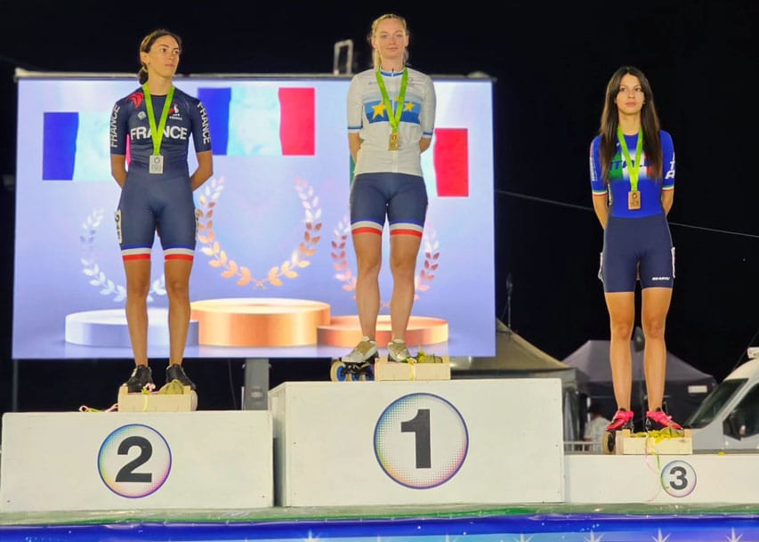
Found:
[(375, 425), (375, 456), (385, 473), (409, 488), (450, 480), (464, 464), (469, 433), (448, 400), (412, 393), (392, 402)]

